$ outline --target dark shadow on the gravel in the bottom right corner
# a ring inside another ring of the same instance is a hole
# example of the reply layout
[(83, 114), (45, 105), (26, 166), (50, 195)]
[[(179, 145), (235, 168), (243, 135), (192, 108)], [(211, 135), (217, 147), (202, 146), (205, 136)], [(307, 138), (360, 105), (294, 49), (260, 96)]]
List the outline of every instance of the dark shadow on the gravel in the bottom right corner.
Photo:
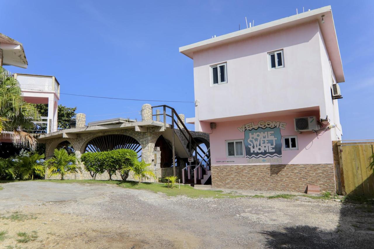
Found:
[(348, 196), (333, 230), (298, 225), (261, 234), (267, 248), (374, 248), (374, 199)]

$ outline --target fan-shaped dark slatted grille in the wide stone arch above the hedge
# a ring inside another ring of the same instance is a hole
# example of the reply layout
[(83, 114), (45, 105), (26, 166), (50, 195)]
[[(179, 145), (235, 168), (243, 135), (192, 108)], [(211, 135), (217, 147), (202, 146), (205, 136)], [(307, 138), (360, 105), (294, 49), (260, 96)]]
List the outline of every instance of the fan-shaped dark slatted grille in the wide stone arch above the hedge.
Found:
[(141, 145), (139, 142), (126, 135), (105, 135), (93, 138), (86, 145), (86, 152), (99, 152), (117, 149), (134, 150), (138, 155), (141, 154)]

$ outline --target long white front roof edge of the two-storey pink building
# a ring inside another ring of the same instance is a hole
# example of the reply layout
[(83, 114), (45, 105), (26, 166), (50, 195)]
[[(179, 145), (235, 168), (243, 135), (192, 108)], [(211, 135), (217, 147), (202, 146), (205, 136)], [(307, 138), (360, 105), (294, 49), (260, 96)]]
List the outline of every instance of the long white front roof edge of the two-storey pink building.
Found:
[[(330, 5), (325, 6), (325, 7), (321, 7), (319, 9), (306, 11), (306, 12), (303, 12), (303, 13), (300, 13), (300, 14), (297, 14), (297, 15), (292, 15), (292, 16), (288, 16), (288, 17), (285, 17), (285, 18), (281, 18), (281, 19), (278, 19), (278, 20), (275, 20), (275, 21), (266, 22), (264, 24), (256, 25), (252, 28), (245, 28), (243, 30), (234, 31), (234, 32), (229, 33), (229, 34), (224, 34), (222, 36), (217, 36), (217, 37), (214, 37), (214, 38), (211, 38), (211, 39), (203, 40), (201, 42), (196, 42), (196, 43), (192, 43), (192, 44), (180, 47), (179, 52), (183, 53), (184, 55), (187, 55), (186, 53), (184, 53), (184, 51), (189, 50), (189, 49), (194, 49), (194, 48), (197, 48), (197, 47), (200, 47), (200, 46), (221, 42), (221, 41), (224, 41), (224, 40), (227, 40), (227, 39), (231, 39), (231, 38), (242, 36), (242, 35), (249, 34), (249, 33), (254, 33), (254, 32), (257, 32), (257, 31), (260, 31), (260, 30), (265, 30), (267, 28), (275, 27), (275, 26), (278, 26), (278, 25), (281, 25), (281, 24), (285, 24), (287, 22), (292, 22), (292, 21), (307, 18), (307, 17), (310, 17), (310, 16), (318, 15), (318, 14), (327, 12), (329, 10), (331, 10)], [(191, 56), (189, 56), (189, 55), (187, 55), (187, 56), (191, 58)]]

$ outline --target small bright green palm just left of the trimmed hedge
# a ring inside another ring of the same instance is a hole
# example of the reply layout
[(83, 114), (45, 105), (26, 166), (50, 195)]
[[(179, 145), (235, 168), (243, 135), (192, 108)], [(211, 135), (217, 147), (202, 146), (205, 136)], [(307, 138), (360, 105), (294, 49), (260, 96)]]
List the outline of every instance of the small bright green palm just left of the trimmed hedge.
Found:
[(45, 160), (45, 166), (48, 169), (49, 176), (61, 175), (61, 180), (64, 175), (70, 173), (82, 173), (82, 167), (79, 166), (80, 160), (76, 154), (68, 154), (64, 149), (55, 149), (53, 157)]

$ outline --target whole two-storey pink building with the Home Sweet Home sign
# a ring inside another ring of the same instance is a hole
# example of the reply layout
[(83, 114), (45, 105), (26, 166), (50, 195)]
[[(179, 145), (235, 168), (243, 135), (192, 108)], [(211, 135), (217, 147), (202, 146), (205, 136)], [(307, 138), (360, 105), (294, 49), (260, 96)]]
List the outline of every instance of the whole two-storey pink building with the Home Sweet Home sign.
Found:
[(343, 67), (331, 6), (180, 47), (213, 187), (335, 191)]

